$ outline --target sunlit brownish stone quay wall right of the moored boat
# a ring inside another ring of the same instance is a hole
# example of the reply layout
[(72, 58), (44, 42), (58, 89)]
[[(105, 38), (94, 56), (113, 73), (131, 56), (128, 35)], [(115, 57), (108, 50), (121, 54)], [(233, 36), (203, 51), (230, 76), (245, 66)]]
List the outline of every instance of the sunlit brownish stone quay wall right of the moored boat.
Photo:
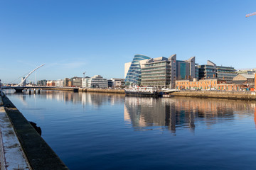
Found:
[(253, 91), (179, 91), (172, 93), (172, 95), (196, 98), (223, 98), (256, 101), (256, 92)]

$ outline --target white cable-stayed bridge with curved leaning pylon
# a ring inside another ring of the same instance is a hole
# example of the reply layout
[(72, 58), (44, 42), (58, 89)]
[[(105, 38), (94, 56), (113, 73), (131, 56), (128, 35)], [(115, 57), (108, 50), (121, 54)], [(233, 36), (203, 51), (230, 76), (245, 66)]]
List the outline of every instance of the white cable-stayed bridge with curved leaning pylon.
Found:
[[(43, 67), (45, 64), (42, 64), (41, 66), (36, 67), (36, 69), (39, 69), (40, 67)], [(23, 77), (21, 82), (17, 84), (16, 86), (1, 86), (1, 80), (0, 80), (0, 91), (4, 89), (14, 89), (16, 93), (21, 93), (24, 89), (29, 90), (29, 94), (31, 94), (31, 89), (34, 89), (34, 92), (36, 92), (36, 89), (38, 89), (38, 93), (40, 93), (40, 89), (55, 89), (55, 90), (70, 90), (74, 92), (78, 92), (78, 88), (75, 87), (54, 87), (54, 86), (26, 86), (26, 79), (36, 71), (36, 69), (33, 69), (26, 77)]]

